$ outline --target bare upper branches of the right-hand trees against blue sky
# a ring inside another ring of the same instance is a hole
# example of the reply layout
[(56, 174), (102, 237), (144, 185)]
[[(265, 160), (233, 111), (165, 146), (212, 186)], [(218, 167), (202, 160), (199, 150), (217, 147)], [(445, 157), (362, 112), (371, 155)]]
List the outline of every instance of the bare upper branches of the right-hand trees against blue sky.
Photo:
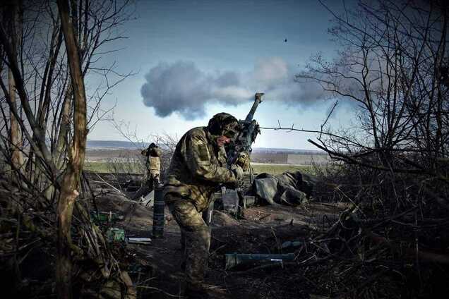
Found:
[(357, 11), (333, 16), (330, 32), (342, 50), (333, 61), (316, 54), (297, 80), (313, 80), (352, 102), (359, 127), (323, 145), (333, 152), (376, 152), (387, 169), (395, 152), (417, 152), (418, 164), (433, 171), (448, 151), (448, 87), (441, 74), (447, 69), (448, 6), (359, 1)]

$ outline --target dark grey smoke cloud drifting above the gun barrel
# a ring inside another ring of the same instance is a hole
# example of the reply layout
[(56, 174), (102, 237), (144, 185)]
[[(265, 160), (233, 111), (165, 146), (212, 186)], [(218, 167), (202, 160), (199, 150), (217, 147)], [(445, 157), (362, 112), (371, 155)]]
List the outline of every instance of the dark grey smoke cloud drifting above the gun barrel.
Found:
[(205, 116), (205, 105), (220, 102), (238, 105), (265, 92), (267, 99), (286, 104), (311, 104), (323, 98), (318, 85), (294, 82), (294, 72), (279, 58), (258, 61), (253, 71), (208, 74), (191, 61), (159, 63), (145, 75), (140, 93), (157, 116), (177, 112), (187, 120)]

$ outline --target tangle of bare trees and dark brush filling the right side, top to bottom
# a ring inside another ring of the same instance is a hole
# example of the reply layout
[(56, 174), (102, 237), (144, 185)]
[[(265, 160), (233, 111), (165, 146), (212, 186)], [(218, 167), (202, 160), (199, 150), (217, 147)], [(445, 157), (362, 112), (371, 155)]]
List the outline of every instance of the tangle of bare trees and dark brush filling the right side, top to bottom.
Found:
[[(342, 248), (353, 242), (346, 254), (371, 252), (389, 271), (391, 260), (411, 264), (409, 271), (396, 270), (419, 281), (410, 293), (426, 295), (438, 288), (434, 277), (445, 276), (429, 260), (447, 262), (436, 239), (447, 230), (441, 219), (449, 211), (448, 8), (445, 1), (413, 0), (358, 1), (342, 14), (328, 8), (340, 51), (335, 59), (315, 54), (296, 77), (320, 84), (357, 111), (354, 127), (323, 126), (318, 142), (309, 140), (344, 162), (330, 170), (325, 184), (334, 199), (352, 204), (350, 215), (340, 216), (354, 225)], [(396, 244), (407, 253), (398, 256)], [(371, 291), (373, 281), (363, 288)]]

